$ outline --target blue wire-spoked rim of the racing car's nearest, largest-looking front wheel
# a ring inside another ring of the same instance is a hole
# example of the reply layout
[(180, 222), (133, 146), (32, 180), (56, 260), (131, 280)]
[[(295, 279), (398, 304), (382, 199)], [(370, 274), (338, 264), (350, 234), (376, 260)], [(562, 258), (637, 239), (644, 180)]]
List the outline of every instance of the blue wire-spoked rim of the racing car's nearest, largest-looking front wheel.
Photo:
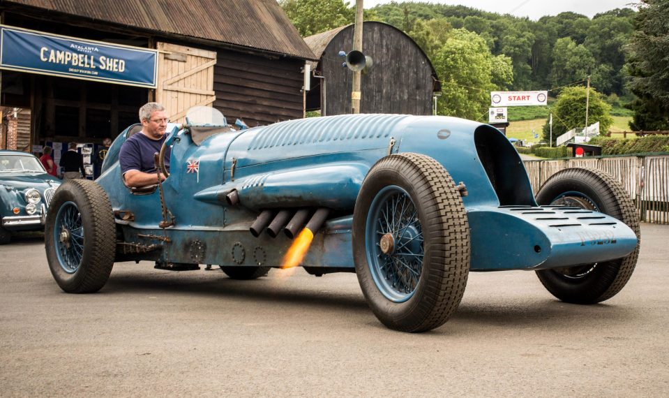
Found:
[(367, 263), (379, 291), (392, 302), (409, 300), (421, 279), (425, 251), (418, 209), (407, 191), (391, 185), (377, 193), (367, 214), (365, 238)]

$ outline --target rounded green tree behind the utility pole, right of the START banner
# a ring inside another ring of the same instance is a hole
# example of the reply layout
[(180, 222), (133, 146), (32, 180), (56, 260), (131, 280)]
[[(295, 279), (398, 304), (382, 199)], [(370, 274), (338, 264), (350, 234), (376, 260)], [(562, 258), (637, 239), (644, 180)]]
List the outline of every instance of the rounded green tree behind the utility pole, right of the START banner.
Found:
[[(566, 133), (572, 128), (585, 127), (585, 103), (587, 90), (585, 87), (566, 87), (563, 89), (557, 101), (553, 105), (553, 145), (560, 135)], [(590, 98), (588, 106), (588, 124), (594, 124), (599, 121), (599, 131), (608, 131), (613, 124), (610, 117), (611, 107), (604, 102), (601, 94), (593, 87), (590, 87)], [(543, 125), (543, 139), (550, 140), (550, 126), (548, 121)]]

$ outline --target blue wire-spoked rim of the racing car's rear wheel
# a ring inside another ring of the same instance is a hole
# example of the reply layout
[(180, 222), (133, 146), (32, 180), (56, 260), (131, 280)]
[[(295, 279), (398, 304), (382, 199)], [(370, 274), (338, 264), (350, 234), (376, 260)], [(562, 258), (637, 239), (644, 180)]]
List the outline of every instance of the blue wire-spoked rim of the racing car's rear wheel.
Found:
[(65, 272), (79, 270), (84, 256), (84, 224), (79, 207), (65, 202), (58, 209), (54, 223), (54, 247), (58, 262)]

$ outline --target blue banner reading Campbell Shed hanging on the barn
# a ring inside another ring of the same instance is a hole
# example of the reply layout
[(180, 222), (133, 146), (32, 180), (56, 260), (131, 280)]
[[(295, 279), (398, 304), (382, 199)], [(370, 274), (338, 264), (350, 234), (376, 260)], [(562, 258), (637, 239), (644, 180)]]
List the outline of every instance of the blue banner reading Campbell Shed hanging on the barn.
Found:
[(158, 50), (0, 25), (0, 69), (155, 89)]

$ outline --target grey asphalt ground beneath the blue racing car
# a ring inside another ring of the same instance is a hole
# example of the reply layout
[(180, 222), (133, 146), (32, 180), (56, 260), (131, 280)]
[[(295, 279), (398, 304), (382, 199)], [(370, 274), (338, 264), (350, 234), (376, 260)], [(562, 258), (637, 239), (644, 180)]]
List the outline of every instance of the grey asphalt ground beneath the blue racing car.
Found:
[(564, 304), (533, 272), (471, 274), (446, 325), (393, 332), (354, 274), (114, 265), (62, 293), (40, 237), (0, 246), (0, 396), (666, 397), (669, 226), (603, 304)]

